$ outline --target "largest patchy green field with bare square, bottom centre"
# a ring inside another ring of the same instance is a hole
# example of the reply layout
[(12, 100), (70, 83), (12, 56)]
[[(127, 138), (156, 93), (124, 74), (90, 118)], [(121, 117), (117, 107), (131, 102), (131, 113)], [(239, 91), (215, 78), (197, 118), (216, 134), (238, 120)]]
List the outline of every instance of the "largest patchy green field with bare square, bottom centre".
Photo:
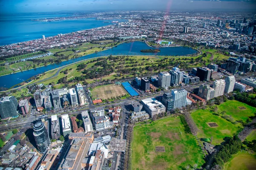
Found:
[[(156, 146), (165, 152), (155, 152)], [(200, 167), (203, 153), (192, 134), (184, 132), (179, 117), (166, 117), (134, 127), (131, 164), (133, 170), (178, 170)]]

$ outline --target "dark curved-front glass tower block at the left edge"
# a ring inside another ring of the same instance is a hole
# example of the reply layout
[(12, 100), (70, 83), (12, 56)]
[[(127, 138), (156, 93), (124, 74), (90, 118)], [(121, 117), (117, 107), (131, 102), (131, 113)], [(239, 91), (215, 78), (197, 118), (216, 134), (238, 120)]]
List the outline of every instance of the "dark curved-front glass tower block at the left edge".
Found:
[(18, 117), (18, 102), (15, 96), (6, 96), (0, 99), (0, 116), (1, 119)]

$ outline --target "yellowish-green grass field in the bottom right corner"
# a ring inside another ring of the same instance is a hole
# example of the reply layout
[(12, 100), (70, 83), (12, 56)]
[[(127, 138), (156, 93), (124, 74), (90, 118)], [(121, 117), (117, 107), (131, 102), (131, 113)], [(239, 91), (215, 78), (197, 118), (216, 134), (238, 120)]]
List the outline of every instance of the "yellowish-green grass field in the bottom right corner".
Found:
[(239, 152), (224, 164), (224, 170), (255, 170), (256, 155)]

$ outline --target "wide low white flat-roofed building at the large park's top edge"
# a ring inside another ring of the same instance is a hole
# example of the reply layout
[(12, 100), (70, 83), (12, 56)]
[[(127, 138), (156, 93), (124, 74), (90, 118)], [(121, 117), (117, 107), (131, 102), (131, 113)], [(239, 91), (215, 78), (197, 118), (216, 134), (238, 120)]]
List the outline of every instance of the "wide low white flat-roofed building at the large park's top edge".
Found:
[(142, 99), (141, 103), (151, 118), (166, 111), (166, 107), (155, 98)]

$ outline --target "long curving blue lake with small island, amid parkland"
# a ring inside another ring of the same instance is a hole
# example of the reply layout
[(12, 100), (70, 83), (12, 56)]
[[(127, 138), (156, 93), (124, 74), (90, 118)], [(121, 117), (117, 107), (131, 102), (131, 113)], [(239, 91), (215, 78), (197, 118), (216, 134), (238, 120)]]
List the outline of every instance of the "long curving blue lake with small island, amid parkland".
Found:
[[(72, 64), (74, 62), (78, 62), (84, 59), (91, 59), (95, 57), (101, 56), (109, 56), (109, 55), (155, 55), (154, 53), (142, 53), (140, 50), (142, 49), (150, 49), (145, 42), (134, 41), (134, 42), (125, 42), (120, 45), (117, 45), (113, 48), (110, 48), (105, 51), (101, 51), (98, 53), (88, 54), (83, 57), (79, 57), (76, 59), (70, 59), (67, 61), (18, 72), (15, 74), (9, 74), (0, 77), (0, 87), (11, 88), (14, 85), (20, 84), (26, 80), (29, 80), (31, 77), (44, 73), (46, 71), (52, 70), (54, 68), (58, 68), (64, 65)], [(193, 48), (189, 47), (160, 47), (160, 52), (157, 55), (161, 56), (184, 56), (189, 54), (195, 54), (197, 51)]]

